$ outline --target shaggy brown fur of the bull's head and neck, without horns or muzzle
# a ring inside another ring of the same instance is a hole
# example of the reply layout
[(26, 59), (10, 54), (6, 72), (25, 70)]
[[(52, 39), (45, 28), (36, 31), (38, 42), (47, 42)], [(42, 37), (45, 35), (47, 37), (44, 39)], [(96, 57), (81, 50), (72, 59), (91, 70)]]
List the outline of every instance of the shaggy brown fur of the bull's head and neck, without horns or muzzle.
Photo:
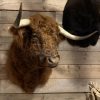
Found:
[(39, 55), (58, 56), (59, 29), (50, 17), (40, 14), (30, 17), (30, 26), (11, 29), (14, 40), (8, 52), (7, 73), (10, 80), (26, 92), (44, 85), (52, 70)]

